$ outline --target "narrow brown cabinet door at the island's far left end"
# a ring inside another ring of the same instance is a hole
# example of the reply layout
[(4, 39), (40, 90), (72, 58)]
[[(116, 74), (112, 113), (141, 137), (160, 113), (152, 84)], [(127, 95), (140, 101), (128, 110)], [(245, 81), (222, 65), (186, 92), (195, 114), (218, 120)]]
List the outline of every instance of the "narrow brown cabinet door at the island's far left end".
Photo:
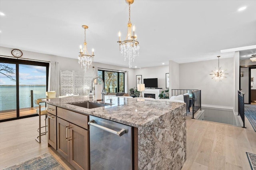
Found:
[(47, 113), (48, 116), (48, 144), (57, 149), (56, 125), (57, 117)]

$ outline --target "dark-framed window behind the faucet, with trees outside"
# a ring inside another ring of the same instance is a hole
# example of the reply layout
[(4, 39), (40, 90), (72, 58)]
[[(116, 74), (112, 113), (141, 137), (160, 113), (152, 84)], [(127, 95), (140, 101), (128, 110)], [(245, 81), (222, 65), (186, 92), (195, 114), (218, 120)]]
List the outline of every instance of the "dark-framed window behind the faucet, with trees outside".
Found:
[[(124, 73), (98, 70), (98, 76), (104, 80), (104, 86), (107, 92), (124, 92)], [(101, 84), (100, 81), (99, 84)]]

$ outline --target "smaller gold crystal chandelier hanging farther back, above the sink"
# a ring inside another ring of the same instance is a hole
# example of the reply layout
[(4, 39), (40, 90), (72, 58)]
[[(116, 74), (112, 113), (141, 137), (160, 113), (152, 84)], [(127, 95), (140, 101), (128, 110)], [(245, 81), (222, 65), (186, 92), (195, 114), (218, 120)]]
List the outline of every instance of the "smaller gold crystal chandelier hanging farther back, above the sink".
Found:
[(81, 68), (84, 66), (84, 72), (86, 73), (87, 66), (92, 65), (93, 57), (94, 57), (94, 49), (92, 49), (92, 55), (88, 54), (87, 51), (87, 43), (86, 43), (86, 29), (88, 26), (82, 26), (84, 28), (84, 48), (82, 49), (82, 45), (80, 45), (80, 54), (78, 55), (78, 63), (81, 64)]

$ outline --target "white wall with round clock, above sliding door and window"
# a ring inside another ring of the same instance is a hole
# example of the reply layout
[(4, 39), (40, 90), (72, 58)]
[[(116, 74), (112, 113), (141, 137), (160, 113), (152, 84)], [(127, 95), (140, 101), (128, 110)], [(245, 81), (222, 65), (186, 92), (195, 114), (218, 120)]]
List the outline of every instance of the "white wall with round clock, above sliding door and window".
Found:
[[(0, 57), (3, 57), (3, 56), (12, 57), (11, 51), (12, 51), (12, 48), (0, 47), (0, 55), (2, 55)], [(23, 53), (23, 55), (20, 59), (32, 59), (32, 60), (48, 61), (48, 62), (57, 61), (59, 73), (60, 73), (60, 70), (62, 70), (62, 71), (65, 71), (65, 70), (83, 71), (81, 66), (78, 64), (78, 59), (60, 57), (60, 56), (56, 56), (56, 55), (49, 55), (49, 54), (43, 54), (43, 53), (35, 53), (35, 52), (24, 51), (24, 50), (22, 50), (22, 53)], [(128, 88), (134, 87), (134, 84), (135, 84), (134, 69), (130, 69), (128, 67), (119, 67), (119, 66), (115, 66), (115, 65), (95, 63), (95, 62), (92, 65), (96, 66), (96, 67), (105, 68), (105, 69), (128, 71), (129, 72), (128, 73), (128, 76), (129, 76)]]

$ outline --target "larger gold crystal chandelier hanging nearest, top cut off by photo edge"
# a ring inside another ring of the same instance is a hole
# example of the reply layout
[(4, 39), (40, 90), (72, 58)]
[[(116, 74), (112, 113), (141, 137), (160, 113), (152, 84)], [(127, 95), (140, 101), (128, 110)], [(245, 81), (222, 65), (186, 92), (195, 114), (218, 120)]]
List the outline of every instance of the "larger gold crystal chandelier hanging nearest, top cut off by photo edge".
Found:
[(133, 26), (132, 30), (132, 23), (131, 23), (131, 4), (134, 0), (125, 0), (127, 4), (129, 4), (129, 21), (128, 21), (128, 32), (126, 39), (121, 41), (121, 32), (118, 33), (119, 36), (119, 49), (121, 54), (124, 56), (124, 61), (126, 58), (129, 60), (129, 67), (132, 67), (132, 62), (134, 61), (135, 57), (139, 55), (140, 46), (138, 46), (139, 42), (137, 41), (137, 35), (135, 34), (135, 26)]

